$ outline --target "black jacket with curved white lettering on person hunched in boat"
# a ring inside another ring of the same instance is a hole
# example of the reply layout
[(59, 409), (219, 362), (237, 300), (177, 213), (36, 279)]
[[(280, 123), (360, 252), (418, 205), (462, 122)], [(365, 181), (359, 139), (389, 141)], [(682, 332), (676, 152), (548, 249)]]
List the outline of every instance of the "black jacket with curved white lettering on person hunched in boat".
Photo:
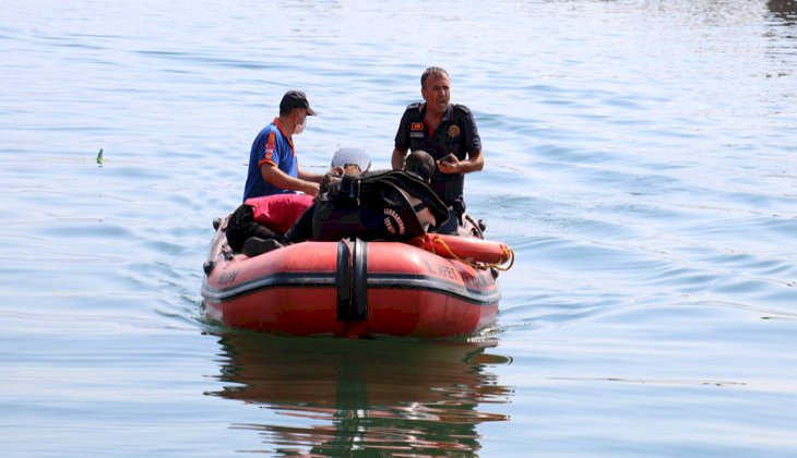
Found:
[[(408, 194), (420, 200), (415, 208)], [(436, 220), (448, 218), (448, 208), (423, 180), (400, 170), (344, 176), (330, 183), (316, 200), (312, 236), (334, 241), (408, 240), (424, 234), (416, 212), (428, 208)]]

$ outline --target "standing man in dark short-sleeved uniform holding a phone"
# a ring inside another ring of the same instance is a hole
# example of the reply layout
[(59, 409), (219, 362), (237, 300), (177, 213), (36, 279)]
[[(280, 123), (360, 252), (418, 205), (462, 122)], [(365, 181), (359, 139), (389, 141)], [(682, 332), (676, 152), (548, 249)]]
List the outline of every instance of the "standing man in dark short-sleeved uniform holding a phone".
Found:
[(431, 154), (437, 162), (431, 188), (456, 216), (452, 219), (461, 219), (465, 213), (464, 174), (485, 167), (476, 121), (467, 107), (450, 103), (451, 80), (439, 67), (430, 67), (420, 75), (420, 95), (424, 103), (411, 104), (402, 116), (391, 164), (401, 170), (409, 149)]

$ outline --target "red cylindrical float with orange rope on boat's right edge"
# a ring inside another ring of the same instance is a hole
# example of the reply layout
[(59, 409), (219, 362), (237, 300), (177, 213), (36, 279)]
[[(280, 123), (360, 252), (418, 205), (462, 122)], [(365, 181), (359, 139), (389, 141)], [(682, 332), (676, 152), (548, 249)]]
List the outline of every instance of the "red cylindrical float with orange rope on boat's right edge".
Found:
[[(475, 237), (425, 233), (412, 239), (409, 243), (438, 256), (459, 260), (479, 268), (509, 270), (514, 264), (514, 252), (509, 245)], [(509, 266), (500, 267), (508, 262)]]

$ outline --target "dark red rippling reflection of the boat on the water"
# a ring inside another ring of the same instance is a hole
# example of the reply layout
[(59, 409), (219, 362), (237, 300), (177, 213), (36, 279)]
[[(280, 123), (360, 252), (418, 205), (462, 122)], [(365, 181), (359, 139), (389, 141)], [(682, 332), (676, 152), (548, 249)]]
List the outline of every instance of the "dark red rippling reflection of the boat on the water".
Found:
[[(223, 390), (262, 405), (287, 424), (235, 424), (281, 455), (353, 451), (440, 455), (480, 448), (476, 426), (507, 421), (483, 405), (507, 403), (509, 388), (487, 365), (495, 343), (221, 336)], [(290, 418), (302, 419), (292, 422)]]

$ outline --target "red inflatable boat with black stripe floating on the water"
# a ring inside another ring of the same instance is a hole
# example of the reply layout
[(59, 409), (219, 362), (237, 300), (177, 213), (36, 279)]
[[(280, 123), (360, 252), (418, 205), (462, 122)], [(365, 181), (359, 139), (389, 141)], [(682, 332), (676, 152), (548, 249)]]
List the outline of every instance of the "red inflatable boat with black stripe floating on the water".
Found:
[(263, 333), (471, 335), (493, 323), (496, 268), (514, 261), (503, 243), (438, 234), (302, 242), (248, 257), (227, 245), (225, 224), (216, 224), (204, 266), (205, 313)]

